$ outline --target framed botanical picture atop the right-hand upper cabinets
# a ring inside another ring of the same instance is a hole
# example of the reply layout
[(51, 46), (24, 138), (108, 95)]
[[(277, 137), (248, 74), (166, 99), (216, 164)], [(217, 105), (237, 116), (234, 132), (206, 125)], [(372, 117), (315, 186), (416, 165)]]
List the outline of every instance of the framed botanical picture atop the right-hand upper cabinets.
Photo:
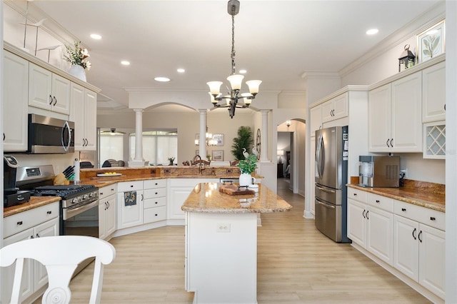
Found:
[(425, 62), (444, 53), (444, 20), (417, 36), (418, 62)]

